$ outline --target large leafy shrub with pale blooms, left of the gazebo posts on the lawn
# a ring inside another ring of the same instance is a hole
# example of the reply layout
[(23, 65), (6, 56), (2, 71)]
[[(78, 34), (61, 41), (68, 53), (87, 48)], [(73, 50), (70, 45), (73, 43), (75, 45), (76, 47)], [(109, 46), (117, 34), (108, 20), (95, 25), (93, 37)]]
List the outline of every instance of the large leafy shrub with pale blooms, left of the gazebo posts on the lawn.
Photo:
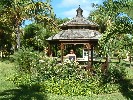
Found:
[(43, 80), (54, 76), (56, 59), (43, 53), (33, 52), (33, 48), (22, 47), (14, 54), (17, 73), (13, 81), (17, 85), (40, 84)]

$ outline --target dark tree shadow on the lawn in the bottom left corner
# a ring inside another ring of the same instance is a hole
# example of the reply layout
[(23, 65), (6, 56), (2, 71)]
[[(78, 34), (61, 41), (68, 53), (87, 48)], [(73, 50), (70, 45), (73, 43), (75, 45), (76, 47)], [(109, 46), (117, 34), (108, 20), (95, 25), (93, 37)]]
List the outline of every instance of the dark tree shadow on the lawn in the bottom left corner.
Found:
[(20, 86), (18, 89), (1, 92), (0, 100), (47, 100), (47, 95), (40, 91), (39, 86)]

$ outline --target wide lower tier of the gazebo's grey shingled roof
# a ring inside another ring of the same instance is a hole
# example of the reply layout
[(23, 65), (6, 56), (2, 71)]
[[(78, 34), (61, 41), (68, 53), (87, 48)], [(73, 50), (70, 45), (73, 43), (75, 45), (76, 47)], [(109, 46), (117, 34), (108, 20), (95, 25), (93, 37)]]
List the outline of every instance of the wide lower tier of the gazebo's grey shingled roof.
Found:
[(51, 36), (48, 40), (62, 39), (99, 39), (101, 34), (95, 30), (89, 29), (68, 29), (62, 30), (58, 34)]

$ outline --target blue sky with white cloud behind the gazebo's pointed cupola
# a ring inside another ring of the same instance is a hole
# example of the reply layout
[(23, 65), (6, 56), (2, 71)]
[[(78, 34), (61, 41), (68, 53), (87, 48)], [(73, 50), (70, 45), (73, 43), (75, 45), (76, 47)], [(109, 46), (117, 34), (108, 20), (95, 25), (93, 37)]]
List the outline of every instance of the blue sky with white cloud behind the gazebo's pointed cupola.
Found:
[(92, 3), (102, 4), (104, 0), (52, 0), (51, 5), (57, 18), (73, 18), (76, 16), (76, 9), (83, 9), (83, 16), (88, 17), (94, 10)]

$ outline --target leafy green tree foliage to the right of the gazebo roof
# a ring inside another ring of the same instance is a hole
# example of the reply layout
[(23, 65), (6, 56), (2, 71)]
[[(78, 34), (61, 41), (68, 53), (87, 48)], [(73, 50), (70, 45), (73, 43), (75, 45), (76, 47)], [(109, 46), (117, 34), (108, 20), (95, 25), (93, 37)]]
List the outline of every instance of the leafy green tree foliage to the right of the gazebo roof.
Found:
[(122, 15), (123, 9), (131, 8), (131, 5), (132, 0), (107, 0), (103, 5), (94, 6), (97, 10), (89, 18), (99, 24), (103, 33), (99, 41), (99, 51), (103, 56), (123, 58), (127, 52), (131, 53), (133, 23), (128, 16)]

